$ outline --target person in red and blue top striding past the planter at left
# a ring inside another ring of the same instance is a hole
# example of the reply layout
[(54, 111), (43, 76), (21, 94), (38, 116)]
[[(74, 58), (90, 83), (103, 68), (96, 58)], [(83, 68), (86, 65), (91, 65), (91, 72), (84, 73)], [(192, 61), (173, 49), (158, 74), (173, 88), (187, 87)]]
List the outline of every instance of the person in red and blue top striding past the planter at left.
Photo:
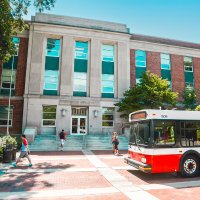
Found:
[(21, 152), (20, 152), (20, 155), (19, 155), (19, 157), (18, 157), (16, 163), (13, 163), (13, 167), (16, 167), (17, 164), (18, 164), (19, 162), (21, 162), (21, 159), (24, 158), (24, 157), (26, 157), (26, 158), (28, 159), (28, 161), (29, 161), (28, 166), (29, 166), (29, 167), (32, 167), (32, 162), (31, 162), (31, 159), (30, 159), (30, 157), (29, 157), (30, 150), (29, 150), (29, 148), (28, 148), (28, 141), (27, 141), (27, 139), (26, 139), (26, 136), (25, 136), (24, 134), (22, 134), (22, 135), (21, 135), (21, 139), (22, 139)]

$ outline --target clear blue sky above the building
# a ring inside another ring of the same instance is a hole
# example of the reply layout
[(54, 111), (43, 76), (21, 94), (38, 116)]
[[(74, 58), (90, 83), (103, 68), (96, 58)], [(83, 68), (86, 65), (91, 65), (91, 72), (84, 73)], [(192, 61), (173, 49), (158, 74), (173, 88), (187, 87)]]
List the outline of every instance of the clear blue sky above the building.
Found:
[[(25, 19), (35, 12), (31, 6)], [(117, 22), (131, 33), (200, 43), (200, 0), (56, 0), (45, 13)]]

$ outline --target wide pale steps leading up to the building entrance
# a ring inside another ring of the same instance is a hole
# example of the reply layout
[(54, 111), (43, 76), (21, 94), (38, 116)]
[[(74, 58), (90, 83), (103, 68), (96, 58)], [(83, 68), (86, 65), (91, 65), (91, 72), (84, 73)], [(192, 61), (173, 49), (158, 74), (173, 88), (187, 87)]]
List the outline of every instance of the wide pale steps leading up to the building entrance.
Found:
[[(89, 150), (111, 150), (110, 135), (67, 135), (64, 151)], [(119, 136), (119, 150), (128, 149), (128, 140), (124, 135)], [(35, 141), (29, 145), (31, 151), (57, 151), (60, 150), (60, 140), (56, 135), (37, 135)]]

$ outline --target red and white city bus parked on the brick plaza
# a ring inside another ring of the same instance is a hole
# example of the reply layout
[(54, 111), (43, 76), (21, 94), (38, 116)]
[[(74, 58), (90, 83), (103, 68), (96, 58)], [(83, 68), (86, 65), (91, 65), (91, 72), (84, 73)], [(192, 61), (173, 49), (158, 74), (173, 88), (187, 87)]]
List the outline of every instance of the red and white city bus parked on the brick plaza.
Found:
[(200, 112), (140, 110), (129, 115), (126, 163), (147, 173), (200, 172)]

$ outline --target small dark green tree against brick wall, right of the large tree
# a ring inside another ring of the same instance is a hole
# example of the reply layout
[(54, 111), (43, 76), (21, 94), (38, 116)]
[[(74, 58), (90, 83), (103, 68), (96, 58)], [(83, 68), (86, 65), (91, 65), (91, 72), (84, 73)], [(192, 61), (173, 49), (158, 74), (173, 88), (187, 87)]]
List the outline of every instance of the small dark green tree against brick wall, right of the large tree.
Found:
[(196, 104), (196, 94), (194, 89), (186, 88), (183, 92), (183, 105), (185, 109), (194, 110)]

